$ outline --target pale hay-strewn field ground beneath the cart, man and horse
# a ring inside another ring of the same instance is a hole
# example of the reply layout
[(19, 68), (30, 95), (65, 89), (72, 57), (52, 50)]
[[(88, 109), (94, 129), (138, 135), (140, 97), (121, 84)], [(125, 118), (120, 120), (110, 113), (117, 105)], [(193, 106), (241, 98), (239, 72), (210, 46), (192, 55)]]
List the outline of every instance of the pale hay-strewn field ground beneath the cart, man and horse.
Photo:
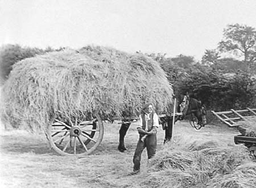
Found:
[[(142, 172), (129, 176), (133, 169), (133, 153), (138, 140), (131, 124), (125, 143), (127, 151), (118, 152), (119, 124), (105, 123), (104, 139), (97, 151), (85, 157), (65, 157), (49, 148), (44, 134), (1, 129), (1, 187), (154, 187), (143, 185), (147, 178), (146, 149), (142, 156)], [(174, 135), (187, 140), (220, 140), (233, 145), (236, 129), (207, 126), (197, 131), (187, 122), (177, 122)], [(158, 151), (163, 147), (164, 131), (158, 130)], [(170, 185), (171, 187), (171, 185)]]

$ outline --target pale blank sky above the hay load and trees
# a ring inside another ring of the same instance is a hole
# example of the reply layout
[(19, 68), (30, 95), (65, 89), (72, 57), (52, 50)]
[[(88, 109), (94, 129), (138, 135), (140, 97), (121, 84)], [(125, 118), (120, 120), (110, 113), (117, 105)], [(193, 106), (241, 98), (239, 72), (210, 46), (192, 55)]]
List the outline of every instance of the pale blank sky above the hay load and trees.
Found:
[(194, 56), (214, 49), (228, 24), (256, 28), (255, 0), (0, 0), (0, 44), (88, 44)]

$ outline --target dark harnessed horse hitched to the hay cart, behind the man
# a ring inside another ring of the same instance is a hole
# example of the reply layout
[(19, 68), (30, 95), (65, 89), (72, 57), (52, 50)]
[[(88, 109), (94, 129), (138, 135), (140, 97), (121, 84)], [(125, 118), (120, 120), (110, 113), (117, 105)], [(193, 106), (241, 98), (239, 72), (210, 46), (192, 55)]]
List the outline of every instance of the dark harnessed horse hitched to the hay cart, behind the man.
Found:
[[(173, 111), (173, 109), (170, 109)], [(204, 105), (201, 104), (200, 101), (197, 101), (195, 98), (189, 98), (187, 95), (184, 95), (183, 100), (180, 102), (179, 105), (176, 105), (176, 112), (182, 112), (183, 115), (176, 115), (175, 116), (175, 122), (177, 120), (183, 120), (186, 115), (194, 115), (197, 119), (195, 128), (199, 125), (200, 127), (204, 126), (206, 124), (205, 121), (205, 115), (206, 110)], [(174, 116), (164, 116), (163, 118), (159, 118), (159, 124), (162, 124), (163, 129), (165, 131), (164, 136), (164, 143), (167, 141), (170, 141), (172, 138), (172, 127), (173, 125), (173, 118)], [(194, 122), (193, 122), (194, 123)], [(130, 127), (130, 122), (123, 122), (120, 129), (119, 129), (119, 145), (118, 150), (120, 152), (124, 152), (126, 150), (125, 148), (125, 135)]]

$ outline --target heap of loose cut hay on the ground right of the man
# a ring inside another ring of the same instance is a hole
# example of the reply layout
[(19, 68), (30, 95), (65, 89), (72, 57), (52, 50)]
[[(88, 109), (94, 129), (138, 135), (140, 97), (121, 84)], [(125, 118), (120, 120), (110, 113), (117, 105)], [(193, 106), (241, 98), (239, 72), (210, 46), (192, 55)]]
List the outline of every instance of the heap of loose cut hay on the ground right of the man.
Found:
[(151, 159), (149, 176), (141, 185), (152, 187), (254, 187), (255, 159), (243, 145), (219, 140), (175, 138)]

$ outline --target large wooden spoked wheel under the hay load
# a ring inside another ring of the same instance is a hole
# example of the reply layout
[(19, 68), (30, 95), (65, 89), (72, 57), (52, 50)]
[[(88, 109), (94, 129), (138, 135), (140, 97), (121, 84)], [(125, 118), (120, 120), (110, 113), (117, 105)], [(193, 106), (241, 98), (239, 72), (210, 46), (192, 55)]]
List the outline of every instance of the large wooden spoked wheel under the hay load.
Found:
[(51, 147), (65, 156), (84, 156), (92, 153), (100, 145), (104, 127), (99, 115), (84, 122), (53, 118), (47, 129)]

